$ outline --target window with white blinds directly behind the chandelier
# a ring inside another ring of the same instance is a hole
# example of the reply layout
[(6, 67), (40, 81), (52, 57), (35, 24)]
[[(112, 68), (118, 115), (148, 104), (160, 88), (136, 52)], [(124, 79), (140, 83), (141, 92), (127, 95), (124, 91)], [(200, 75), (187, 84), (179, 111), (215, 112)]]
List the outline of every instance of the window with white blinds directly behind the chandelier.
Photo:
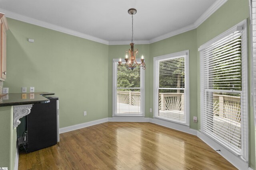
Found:
[(113, 59), (113, 116), (144, 116), (144, 70), (129, 70), (118, 61)]

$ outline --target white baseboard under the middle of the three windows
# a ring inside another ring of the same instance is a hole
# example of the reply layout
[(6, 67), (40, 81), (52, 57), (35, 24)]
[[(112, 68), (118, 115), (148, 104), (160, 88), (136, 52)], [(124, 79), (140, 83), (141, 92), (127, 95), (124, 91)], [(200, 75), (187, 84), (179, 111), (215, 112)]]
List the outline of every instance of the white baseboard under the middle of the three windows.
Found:
[(149, 122), (157, 124), (157, 125), (161, 125), (161, 126), (164, 126), (164, 127), (168, 127), (168, 128), (171, 128), (171, 129), (175, 129), (175, 130), (178, 130), (178, 131), (189, 133), (191, 135), (197, 135), (197, 130), (190, 129), (189, 126), (187, 126), (187, 125), (182, 125), (180, 123), (166, 121), (166, 120), (158, 119), (158, 118), (148, 118), (148, 119), (149, 119)]

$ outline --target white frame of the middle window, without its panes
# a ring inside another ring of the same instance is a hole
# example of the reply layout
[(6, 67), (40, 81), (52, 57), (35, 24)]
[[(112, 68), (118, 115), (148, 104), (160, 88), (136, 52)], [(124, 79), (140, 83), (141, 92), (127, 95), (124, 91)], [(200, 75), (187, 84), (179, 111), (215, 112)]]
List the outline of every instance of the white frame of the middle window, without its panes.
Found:
[[(156, 114), (158, 113), (158, 107), (156, 107), (156, 105), (158, 104), (158, 84), (157, 81), (156, 81), (156, 76), (157, 76), (157, 73), (156, 73), (156, 62), (157, 61), (160, 61), (160, 60), (164, 60), (164, 59), (168, 59), (168, 58), (172, 58), (172, 59), (175, 59), (175, 58), (178, 58), (180, 56), (184, 56), (186, 55), (185, 57), (185, 88), (184, 88), (184, 93), (186, 92), (186, 103), (184, 103), (184, 113), (186, 114), (186, 123), (182, 123), (182, 122), (179, 122), (179, 121), (175, 121), (175, 120), (170, 120), (170, 119), (164, 119), (164, 118), (161, 118), (161, 117), (157, 117)], [(189, 50), (186, 50), (186, 51), (180, 51), (180, 52), (177, 52), (177, 53), (171, 53), (171, 54), (167, 54), (167, 55), (162, 55), (162, 56), (158, 56), (158, 57), (154, 57), (154, 118), (157, 118), (157, 119), (164, 119), (166, 121), (170, 121), (170, 122), (174, 122), (174, 123), (179, 123), (179, 124), (182, 124), (182, 125), (187, 125), (189, 126), (190, 124), (190, 93), (189, 93)]]

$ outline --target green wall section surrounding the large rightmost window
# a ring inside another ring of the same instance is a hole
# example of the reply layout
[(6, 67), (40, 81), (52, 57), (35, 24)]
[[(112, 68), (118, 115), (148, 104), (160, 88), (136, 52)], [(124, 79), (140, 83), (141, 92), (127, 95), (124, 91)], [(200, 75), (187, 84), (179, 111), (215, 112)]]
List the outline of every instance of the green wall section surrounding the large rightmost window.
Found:
[[(233, 27), (242, 20), (248, 21), (248, 94), (251, 94), (251, 45), (250, 45), (250, 11), (248, 0), (228, 0), (214, 14), (196, 29), (197, 49), (200, 45), (210, 41), (214, 37)], [(197, 53), (197, 95), (198, 116), (200, 116), (200, 53)], [(251, 98), (248, 95), (249, 106), (249, 166), (256, 169), (255, 160), (255, 126), (254, 113), (251, 107)], [(198, 129), (199, 129), (198, 123)]]

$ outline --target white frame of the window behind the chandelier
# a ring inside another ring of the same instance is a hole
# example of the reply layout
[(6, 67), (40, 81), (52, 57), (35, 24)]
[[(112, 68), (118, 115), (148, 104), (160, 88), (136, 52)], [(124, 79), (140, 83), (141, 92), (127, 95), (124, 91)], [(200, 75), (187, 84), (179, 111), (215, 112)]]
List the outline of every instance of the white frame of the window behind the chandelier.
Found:
[[(113, 84), (112, 84), (112, 116), (145, 116), (145, 70), (140, 67), (140, 114), (122, 114), (122, 115), (116, 115), (116, 108), (117, 108), (117, 67), (116, 64), (118, 64), (118, 61), (120, 59), (113, 59)], [(121, 59), (122, 64), (125, 64), (125, 60)], [(127, 68), (128, 69), (128, 68)], [(131, 70), (132, 71), (132, 70)]]

